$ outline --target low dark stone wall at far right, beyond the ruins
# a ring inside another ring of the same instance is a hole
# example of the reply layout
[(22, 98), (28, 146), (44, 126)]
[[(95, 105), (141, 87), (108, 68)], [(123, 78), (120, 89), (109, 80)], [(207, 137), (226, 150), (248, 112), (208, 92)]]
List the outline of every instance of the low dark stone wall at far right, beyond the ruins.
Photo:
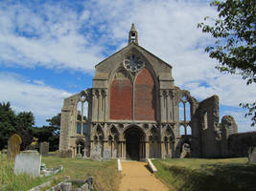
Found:
[(249, 147), (256, 146), (256, 132), (233, 134), (227, 141), (230, 157), (247, 157)]

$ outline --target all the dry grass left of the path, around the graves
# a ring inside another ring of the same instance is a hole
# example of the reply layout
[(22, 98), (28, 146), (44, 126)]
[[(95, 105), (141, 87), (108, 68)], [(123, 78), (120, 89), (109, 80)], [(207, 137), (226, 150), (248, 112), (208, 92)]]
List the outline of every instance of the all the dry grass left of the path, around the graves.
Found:
[[(63, 180), (65, 176), (70, 176), (71, 180), (84, 180), (88, 177), (94, 178), (96, 190), (118, 190), (118, 184), (121, 175), (117, 171), (117, 161), (93, 161), (89, 159), (67, 159), (57, 157), (42, 157), (42, 162), (47, 168), (56, 168), (58, 165), (63, 166), (63, 171), (58, 173), (55, 182)], [(2, 185), (6, 185), (4, 190), (27, 191), (47, 180), (49, 178), (32, 179), (26, 175), (13, 175), (13, 160), (8, 160), (6, 155), (0, 156), (0, 190)]]

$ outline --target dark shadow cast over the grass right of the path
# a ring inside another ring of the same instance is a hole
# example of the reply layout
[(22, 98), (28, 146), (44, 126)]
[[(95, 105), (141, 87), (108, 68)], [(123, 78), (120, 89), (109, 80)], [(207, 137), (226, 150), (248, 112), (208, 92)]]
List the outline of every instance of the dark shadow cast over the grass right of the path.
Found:
[(256, 190), (255, 164), (201, 164), (196, 170), (174, 165), (164, 169), (173, 175), (171, 184), (176, 190)]

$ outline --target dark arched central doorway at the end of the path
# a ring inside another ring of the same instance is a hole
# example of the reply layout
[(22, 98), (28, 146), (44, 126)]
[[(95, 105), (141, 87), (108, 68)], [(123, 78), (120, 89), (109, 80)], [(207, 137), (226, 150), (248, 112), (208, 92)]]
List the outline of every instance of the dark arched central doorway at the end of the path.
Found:
[(129, 127), (125, 132), (127, 159), (144, 158), (145, 134), (136, 126)]

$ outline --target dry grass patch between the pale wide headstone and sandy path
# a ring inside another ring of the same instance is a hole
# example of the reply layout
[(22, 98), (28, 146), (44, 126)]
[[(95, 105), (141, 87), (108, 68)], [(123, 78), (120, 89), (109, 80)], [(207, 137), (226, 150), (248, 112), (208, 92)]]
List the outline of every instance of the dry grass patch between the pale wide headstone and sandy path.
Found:
[(63, 171), (55, 176), (58, 181), (63, 180), (65, 176), (70, 176), (71, 180), (86, 180), (93, 177), (95, 190), (118, 190), (121, 180), (116, 159), (95, 161), (92, 159), (43, 157), (42, 162), (46, 164), (47, 168), (63, 166)]

